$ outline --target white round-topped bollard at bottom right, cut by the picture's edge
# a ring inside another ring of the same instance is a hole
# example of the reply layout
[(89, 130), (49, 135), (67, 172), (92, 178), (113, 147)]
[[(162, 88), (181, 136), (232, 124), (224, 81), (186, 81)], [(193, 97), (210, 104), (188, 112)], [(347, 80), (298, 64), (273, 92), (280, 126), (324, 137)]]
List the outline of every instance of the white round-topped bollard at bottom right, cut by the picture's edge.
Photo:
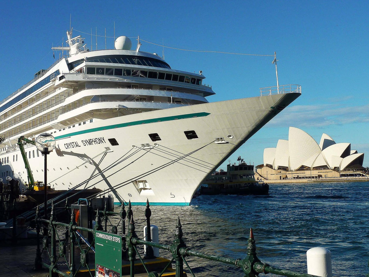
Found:
[(307, 274), (332, 277), (331, 252), (327, 248), (314, 247), (306, 252)]

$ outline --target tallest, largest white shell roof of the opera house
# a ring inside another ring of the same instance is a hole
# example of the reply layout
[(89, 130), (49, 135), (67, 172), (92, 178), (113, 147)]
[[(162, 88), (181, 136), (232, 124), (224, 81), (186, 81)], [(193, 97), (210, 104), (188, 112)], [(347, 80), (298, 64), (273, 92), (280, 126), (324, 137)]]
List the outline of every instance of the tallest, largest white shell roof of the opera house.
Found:
[(304, 165), (311, 156), (317, 156), (321, 149), (308, 133), (295, 127), (290, 127), (288, 133), (290, 169), (296, 170)]

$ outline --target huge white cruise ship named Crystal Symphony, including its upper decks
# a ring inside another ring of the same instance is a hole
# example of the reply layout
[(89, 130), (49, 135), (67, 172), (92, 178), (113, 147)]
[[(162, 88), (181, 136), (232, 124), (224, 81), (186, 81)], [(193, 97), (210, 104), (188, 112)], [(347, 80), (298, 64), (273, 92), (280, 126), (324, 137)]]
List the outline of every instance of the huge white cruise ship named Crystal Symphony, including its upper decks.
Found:
[[(210, 172), (301, 95), (299, 85), (262, 88), (255, 97), (209, 103), (205, 76), (172, 69), (127, 37), (90, 51), (67, 32), (68, 50), (0, 103), (1, 178), (22, 185), (27, 170), (17, 145), (24, 136), (55, 137), (48, 183), (55, 190), (99, 188), (116, 203), (189, 205)], [(35, 180), (44, 157), (25, 152)]]

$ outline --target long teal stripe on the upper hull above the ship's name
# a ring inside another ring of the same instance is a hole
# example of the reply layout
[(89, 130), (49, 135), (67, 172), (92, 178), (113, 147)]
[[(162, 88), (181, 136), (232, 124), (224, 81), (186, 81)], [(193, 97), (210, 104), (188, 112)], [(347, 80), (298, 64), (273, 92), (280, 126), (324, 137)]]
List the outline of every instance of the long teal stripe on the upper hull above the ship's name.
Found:
[(97, 127), (97, 128), (92, 128), (88, 130), (78, 131), (78, 132), (55, 137), (55, 139), (58, 140), (59, 138), (64, 138), (64, 137), (72, 137), (72, 136), (76, 136), (80, 134), (87, 134), (87, 133), (93, 133), (93, 132), (101, 131), (101, 130), (109, 130), (109, 129), (115, 129), (115, 128), (135, 126), (135, 125), (140, 125), (140, 124), (155, 123), (155, 122), (162, 122), (162, 121), (172, 121), (172, 120), (187, 119), (187, 118), (193, 118), (193, 117), (202, 117), (202, 116), (208, 116), (209, 114), (210, 113), (205, 113), (205, 112), (189, 113), (189, 114), (181, 114), (177, 116), (166, 116), (166, 117), (158, 117), (158, 118), (153, 118), (153, 119), (138, 120), (138, 121), (132, 121), (132, 122), (127, 122), (127, 123), (120, 123), (120, 124), (114, 124), (110, 126)]

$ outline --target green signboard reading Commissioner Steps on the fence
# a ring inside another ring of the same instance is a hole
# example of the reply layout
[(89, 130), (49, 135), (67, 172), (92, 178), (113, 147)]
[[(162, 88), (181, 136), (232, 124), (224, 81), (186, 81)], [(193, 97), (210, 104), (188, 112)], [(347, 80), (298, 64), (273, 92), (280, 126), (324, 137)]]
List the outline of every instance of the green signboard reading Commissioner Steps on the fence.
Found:
[(96, 277), (122, 276), (122, 237), (95, 232)]

